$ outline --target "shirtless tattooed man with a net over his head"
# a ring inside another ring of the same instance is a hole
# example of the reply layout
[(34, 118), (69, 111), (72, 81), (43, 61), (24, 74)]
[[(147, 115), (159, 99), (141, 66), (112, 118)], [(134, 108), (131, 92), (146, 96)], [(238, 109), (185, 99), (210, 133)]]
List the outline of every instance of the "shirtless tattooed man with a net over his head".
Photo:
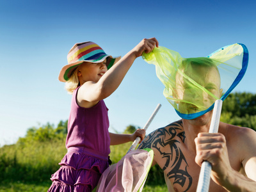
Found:
[[(199, 74), (196, 81), (202, 81), (204, 88), (220, 98), (218, 70), (193, 69)], [(212, 98), (199, 92), (191, 95), (182, 78), (176, 80), (185, 90), (183, 98), (200, 99), (209, 106)], [(177, 97), (180, 94), (177, 92)], [(195, 106), (180, 105), (196, 111)], [(139, 148), (154, 150), (152, 166), (158, 164), (163, 169), (168, 191), (196, 191), (200, 166), (205, 160), (212, 164), (209, 191), (256, 191), (256, 132), (220, 122), (219, 132), (209, 133), (211, 117), (212, 111), (192, 120), (182, 118), (150, 133)]]

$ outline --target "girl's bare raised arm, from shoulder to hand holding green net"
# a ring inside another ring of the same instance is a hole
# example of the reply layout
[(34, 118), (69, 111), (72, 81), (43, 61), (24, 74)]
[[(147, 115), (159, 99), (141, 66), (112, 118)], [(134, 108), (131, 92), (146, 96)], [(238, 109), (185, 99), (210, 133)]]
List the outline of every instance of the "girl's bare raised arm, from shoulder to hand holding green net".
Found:
[[(134, 60), (140, 57), (143, 52), (151, 52), (155, 46), (158, 47), (156, 38), (143, 39), (140, 44), (115, 63), (98, 82), (87, 81), (84, 83), (79, 88), (78, 102), (91, 102), (93, 106), (99, 100), (109, 97), (118, 88)], [(90, 104), (88, 107), (91, 107)]]

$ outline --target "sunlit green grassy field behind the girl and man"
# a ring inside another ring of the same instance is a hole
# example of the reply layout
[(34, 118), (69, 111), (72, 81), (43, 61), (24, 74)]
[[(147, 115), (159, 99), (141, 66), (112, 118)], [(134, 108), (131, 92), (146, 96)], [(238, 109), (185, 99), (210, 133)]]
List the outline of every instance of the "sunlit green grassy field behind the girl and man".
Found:
[[(111, 146), (113, 163), (117, 163), (130, 146), (131, 143)], [(58, 170), (58, 163), (66, 152), (65, 139), (26, 141), (1, 147), (0, 192), (47, 191), (51, 186), (51, 174)], [(161, 169), (156, 166), (151, 168), (143, 191), (167, 191)]]

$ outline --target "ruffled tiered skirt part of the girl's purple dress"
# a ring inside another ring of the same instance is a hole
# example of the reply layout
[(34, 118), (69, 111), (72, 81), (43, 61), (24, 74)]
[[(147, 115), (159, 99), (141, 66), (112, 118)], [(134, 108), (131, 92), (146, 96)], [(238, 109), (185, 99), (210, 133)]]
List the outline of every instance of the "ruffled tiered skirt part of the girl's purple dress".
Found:
[(52, 174), (50, 191), (92, 191), (98, 184), (101, 174), (108, 168), (106, 159), (92, 156), (72, 148), (61, 160), (60, 169)]

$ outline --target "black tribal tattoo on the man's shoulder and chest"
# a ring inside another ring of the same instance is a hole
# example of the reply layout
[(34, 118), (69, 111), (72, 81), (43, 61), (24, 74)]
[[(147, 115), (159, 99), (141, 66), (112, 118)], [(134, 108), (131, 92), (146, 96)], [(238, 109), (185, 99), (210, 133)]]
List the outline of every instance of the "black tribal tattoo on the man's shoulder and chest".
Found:
[[(169, 168), (167, 177), (174, 180), (173, 184), (179, 184), (184, 191), (188, 191), (192, 184), (192, 177), (188, 173), (188, 163), (179, 148), (180, 141), (184, 143), (185, 132), (182, 131), (182, 121), (174, 122), (166, 127), (157, 129), (143, 140), (140, 148), (155, 148), (165, 159), (163, 171)], [(168, 148), (168, 150), (166, 150)]]

